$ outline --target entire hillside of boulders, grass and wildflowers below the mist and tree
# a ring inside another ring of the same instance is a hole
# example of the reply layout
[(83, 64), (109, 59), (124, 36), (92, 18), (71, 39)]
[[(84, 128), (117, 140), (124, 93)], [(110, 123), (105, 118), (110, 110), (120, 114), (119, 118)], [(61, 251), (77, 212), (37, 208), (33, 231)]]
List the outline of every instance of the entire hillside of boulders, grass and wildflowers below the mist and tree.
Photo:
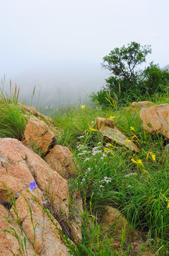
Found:
[(0, 255), (169, 255), (168, 98), (51, 118), (1, 97)]

